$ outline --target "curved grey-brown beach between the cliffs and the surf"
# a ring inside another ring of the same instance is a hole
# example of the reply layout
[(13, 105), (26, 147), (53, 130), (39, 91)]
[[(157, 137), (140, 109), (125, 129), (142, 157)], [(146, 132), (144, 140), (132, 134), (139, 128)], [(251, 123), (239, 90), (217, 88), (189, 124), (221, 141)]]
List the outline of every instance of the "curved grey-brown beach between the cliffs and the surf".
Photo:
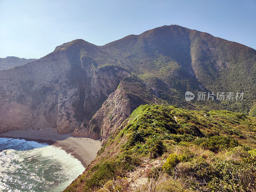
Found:
[(101, 148), (101, 142), (99, 140), (73, 137), (71, 134), (60, 135), (52, 128), (45, 128), (44, 130), (14, 130), (0, 134), (0, 137), (33, 140), (61, 147), (67, 153), (71, 153), (71, 155), (81, 161), (84, 167), (95, 159), (97, 152)]

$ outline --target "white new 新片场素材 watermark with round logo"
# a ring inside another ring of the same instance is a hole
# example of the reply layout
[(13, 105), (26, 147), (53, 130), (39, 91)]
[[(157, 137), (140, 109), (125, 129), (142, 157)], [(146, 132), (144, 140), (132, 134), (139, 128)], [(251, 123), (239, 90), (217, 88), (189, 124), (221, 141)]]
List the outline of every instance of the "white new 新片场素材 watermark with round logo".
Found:
[[(196, 100), (204, 101), (204, 100), (219, 100), (219, 101), (242, 101), (244, 97), (244, 92), (198, 92)], [(195, 98), (194, 93), (187, 91), (185, 93), (185, 100), (191, 101)]]

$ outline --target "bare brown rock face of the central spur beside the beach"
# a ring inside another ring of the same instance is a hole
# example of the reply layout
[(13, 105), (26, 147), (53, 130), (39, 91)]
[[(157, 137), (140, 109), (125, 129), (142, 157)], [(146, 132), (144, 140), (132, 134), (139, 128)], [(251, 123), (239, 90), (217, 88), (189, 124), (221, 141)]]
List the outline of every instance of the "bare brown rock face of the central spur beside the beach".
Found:
[(92, 119), (76, 127), (72, 135), (107, 140), (132, 111), (142, 104), (146, 104), (146, 101), (118, 88), (108, 96)]

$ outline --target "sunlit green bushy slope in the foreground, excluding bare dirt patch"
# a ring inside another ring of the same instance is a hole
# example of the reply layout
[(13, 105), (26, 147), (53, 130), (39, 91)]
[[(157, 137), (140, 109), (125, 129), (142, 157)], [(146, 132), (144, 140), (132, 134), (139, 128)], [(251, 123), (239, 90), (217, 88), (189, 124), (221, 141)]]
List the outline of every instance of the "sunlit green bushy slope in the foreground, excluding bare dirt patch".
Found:
[[(255, 191), (256, 118), (141, 105), (65, 192)], [(159, 161), (131, 187), (130, 175)]]

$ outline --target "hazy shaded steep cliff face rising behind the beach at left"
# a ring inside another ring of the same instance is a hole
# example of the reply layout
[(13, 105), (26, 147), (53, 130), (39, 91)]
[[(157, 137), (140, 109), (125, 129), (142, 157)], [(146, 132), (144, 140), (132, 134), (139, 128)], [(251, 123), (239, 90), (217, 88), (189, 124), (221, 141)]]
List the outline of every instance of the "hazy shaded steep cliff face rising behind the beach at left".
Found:
[(0, 132), (46, 126), (56, 127), (60, 134), (73, 132), (130, 74), (119, 66), (93, 68), (90, 58), (79, 57), (76, 62), (70, 54), (55, 51), (1, 71)]

